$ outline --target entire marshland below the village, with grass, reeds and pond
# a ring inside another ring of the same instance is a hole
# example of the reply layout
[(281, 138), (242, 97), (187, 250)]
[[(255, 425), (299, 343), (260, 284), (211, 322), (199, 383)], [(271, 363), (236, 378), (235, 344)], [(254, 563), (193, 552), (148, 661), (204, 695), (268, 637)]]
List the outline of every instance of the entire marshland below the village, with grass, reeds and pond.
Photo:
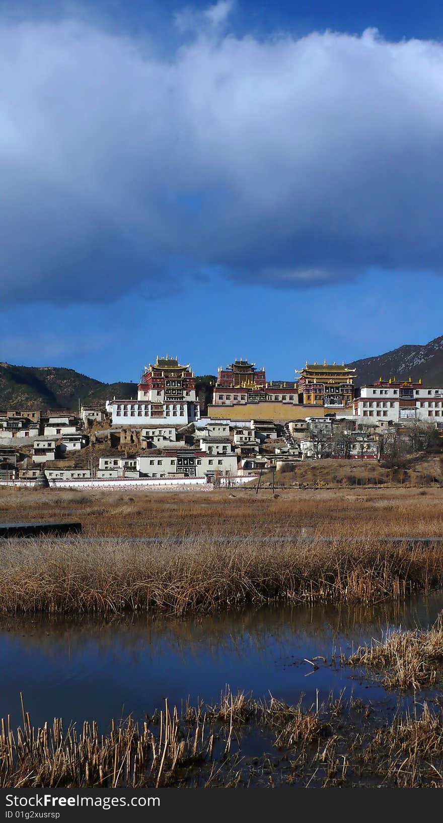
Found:
[(0, 545), (0, 784), (443, 785), (443, 490), (17, 512), (83, 533)]

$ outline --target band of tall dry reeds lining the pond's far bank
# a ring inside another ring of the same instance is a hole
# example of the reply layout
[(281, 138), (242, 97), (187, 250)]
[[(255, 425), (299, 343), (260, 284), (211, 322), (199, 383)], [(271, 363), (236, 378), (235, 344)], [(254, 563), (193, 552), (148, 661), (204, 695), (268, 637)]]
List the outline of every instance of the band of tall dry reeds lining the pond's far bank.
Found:
[(4, 542), (0, 613), (184, 616), (249, 603), (401, 600), (442, 585), (438, 546), (364, 535), (275, 544), (255, 532), (232, 542), (202, 533), (177, 544), (42, 538)]

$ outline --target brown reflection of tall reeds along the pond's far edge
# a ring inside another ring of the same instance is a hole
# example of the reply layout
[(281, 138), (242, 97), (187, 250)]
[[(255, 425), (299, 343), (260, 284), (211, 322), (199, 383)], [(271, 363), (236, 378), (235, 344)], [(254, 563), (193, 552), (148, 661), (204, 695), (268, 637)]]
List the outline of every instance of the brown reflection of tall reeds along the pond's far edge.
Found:
[(385, 600), (370, 609), (360, 603), (318, 603), (314, 606), (282, 605), (242, 607), (201, 616), (194, 620), (174, 617), (153, 619), (151, 615), (131, 612), (108, 616), (33, 616), (18, 614), (0, 618), (0, 632), (14, 639), (21, 649), (39, 649), (48, 658), (81, 653), (94, 646), (97, 653), (109, 654), (118, 661), (128, 655), (137, 663), (142, 659), (161, 661), (171, 651), (189, 660), (201, 653), (217, 657), (235, 655), (239, 660), (251, 652), (265, 658), (278, 645), (281, 654), (306, 641), (321, 643), (325, 653), (334, 648), (337, 638), (357, 646), (365, 637), (382, 635), (386, 625), (415, 628), (435, 620), (443, 603), (443, 593), (415, 595), (404, 602)]

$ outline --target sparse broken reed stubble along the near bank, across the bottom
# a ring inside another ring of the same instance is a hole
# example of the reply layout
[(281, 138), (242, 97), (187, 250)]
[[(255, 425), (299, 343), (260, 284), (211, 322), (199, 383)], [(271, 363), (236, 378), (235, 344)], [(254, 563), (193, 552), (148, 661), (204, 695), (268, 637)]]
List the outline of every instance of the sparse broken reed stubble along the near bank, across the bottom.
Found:
[(179, 712), (165, 700), (152, 718), (112, 721), (105, 734), (94, 721), (35, 728), (22, 697), (21, 708), (19, 728), (1, 723), (1, 788), (443, 788), (443, 716), (428, 704), (388, 721), (343, 695), (303, 707), (227, 690), (217, 706)]

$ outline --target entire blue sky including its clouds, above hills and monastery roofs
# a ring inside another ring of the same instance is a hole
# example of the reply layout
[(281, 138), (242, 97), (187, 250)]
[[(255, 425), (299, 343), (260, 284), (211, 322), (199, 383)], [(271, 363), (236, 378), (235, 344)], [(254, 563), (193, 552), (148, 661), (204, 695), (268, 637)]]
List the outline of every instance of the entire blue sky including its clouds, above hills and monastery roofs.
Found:
[(292, 379), (443, 333), (436, 0), (3, 0), (0, 361)]

